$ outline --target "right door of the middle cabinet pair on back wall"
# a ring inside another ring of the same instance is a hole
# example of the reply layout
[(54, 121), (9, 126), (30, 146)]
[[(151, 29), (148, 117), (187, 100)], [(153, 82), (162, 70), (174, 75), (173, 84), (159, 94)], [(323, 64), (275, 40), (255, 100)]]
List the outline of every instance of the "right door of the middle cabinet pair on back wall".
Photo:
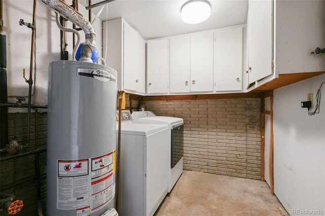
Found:
[(190, 91), (213, 91), (213, 32), (190, 36)]

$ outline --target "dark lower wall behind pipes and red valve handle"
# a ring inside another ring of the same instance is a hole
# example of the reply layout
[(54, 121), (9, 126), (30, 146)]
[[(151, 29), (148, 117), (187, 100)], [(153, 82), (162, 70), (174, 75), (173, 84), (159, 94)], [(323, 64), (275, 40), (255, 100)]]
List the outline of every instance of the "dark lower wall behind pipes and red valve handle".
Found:
[[(18, 110), (18, 109), (16, 109)], [(32, 111), (34, 112), (34, 111)], [(27, 114), (8, 114), (9, 139), (16, 136), (19, 145), (27, 143)], [(38, 114), (37, 146), (35, 146), (35, 113), (30, 118), (30, 140), (29, 146), (20, 153), (26, 153), (39, 147), (46, 146), (47, 137), (47, 114)], [(10, 157), (5, 153), (1, 158)], [(46, 203), (46, 152), (39, 154), (40, 185), (42, 204), (45, 209)], [(0, 164), (0, 189), (1, 194), (14, 194), (17, 199), (23, 200), (19, 215), (37, 215), (37, 178), (36, 178), (36, 156), (34, 154), (2, 161)], [(1, 215), (9, 215), (8, 211), (2, 211)], [(18, 215), (17, 214), (17, 215)]]

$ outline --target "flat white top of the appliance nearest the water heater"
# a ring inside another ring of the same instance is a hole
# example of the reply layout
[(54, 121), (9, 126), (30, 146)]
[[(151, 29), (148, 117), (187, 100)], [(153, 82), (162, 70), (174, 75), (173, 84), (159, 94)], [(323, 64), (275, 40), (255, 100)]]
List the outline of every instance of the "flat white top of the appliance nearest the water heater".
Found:
[(132, 135), (142, 135), (148, 136), (152, 133), (168, 129), (167, 125), (158, 124), (121, 124), (121, 134), (132, 134)]

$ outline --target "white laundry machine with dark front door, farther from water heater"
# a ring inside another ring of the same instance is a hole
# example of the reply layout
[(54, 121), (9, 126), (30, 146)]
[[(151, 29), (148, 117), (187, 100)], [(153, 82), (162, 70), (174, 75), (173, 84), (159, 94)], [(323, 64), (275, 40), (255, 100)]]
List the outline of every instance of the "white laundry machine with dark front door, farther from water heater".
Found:
[(167, 124), (169, 130), (169, 186), (171, 192), (183, 172), (183, 119), (169, 116), (156, 116), (151, 111), (132, 113), (134, 123)]

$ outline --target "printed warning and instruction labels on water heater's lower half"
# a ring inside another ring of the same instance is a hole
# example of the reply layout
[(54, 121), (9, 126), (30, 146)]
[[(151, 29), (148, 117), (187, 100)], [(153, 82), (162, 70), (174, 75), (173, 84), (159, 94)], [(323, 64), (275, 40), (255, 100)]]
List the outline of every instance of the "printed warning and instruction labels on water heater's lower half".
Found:
[(57, 160), (57, 209), (77, 210), (87, 216), (105, 207), (115, 196), (115, 150), (81, 160)]

